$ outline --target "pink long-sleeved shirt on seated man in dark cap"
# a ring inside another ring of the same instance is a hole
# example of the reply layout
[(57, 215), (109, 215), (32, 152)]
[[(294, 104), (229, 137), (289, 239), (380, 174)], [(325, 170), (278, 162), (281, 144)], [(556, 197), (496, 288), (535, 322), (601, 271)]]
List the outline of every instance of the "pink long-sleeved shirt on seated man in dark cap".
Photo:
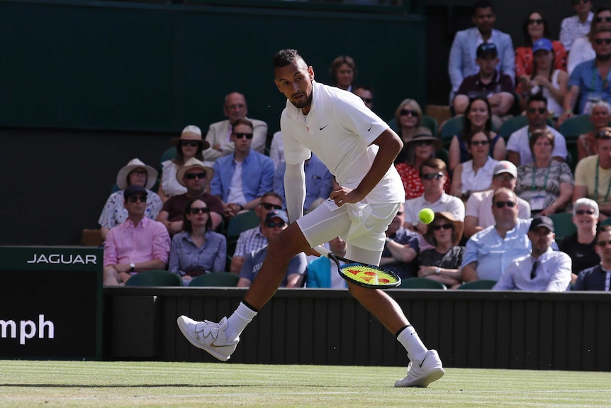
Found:
[(130, 219), (111, 228), (104, 243), (104, 266), (161, 260), (167, 264), (169, 233), (165, 226), (143, 218), (138, 226)]

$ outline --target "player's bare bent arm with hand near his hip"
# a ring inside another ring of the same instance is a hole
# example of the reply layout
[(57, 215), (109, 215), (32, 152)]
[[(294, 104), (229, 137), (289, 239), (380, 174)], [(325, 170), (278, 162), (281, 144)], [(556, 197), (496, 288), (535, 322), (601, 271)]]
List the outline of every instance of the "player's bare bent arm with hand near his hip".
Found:
[[(369, 172), (363, 177), (359, 187), (349, 190), (341, 188), (331, 192), (331, 198), (335, 200), (337, 206), (342, 206), (345, 203), (359, 202), (371, 192), (374, 187), (386, 175), (388, 169), (393, 165), (393, 162), (403, 148), (403, 142), (390, 128), (383, 131), (380, 136), (373, 141), (374, 145), (379, 146), (378, 153), (374, 159)], [(288, 204), (288, 203), (287, 203)]]

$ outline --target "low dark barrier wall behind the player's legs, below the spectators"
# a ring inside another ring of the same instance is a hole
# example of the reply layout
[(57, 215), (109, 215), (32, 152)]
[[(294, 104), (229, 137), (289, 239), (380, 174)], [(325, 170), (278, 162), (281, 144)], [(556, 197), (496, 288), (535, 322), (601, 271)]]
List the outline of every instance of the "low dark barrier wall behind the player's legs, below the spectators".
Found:
[[(446, 367), (611, 370), (608, 293), (388, 292)], [(106, 288), (105, 358), (216, 361), (186, 341), (176, 318), (218, 321), (244, 293)], [(344, 291), (279, 290), (241, 338), (231, 362), (408, 363), (394, 336)]]

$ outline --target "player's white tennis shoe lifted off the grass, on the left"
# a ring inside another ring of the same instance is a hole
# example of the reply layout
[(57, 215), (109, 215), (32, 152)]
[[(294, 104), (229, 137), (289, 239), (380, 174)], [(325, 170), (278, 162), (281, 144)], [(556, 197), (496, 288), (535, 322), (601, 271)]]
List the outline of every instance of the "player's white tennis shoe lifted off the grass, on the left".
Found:
[(221, 361), (227, 361), (231, 354), (235, 351), (240, 338), (235, 341), (228, 342), (225, 337), (225, 328), (227, 327), (227, 318), (223, 317), (218, 323), (213, 321), (195, 321), (187, 316), (180, 316), (176, 319), (178, 328), (197, 348), (208, 351), (215, 358)]

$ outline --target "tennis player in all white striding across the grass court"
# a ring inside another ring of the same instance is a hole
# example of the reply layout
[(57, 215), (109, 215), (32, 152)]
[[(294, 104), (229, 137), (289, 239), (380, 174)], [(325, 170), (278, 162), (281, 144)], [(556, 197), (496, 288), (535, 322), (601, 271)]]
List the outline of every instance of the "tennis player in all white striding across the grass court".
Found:
[[(393, 160), (403, 143), (356, 95), (318, 84), (314, 70), (296, 50), (273, 57), (274, 82), (288, 99), (281, 116), (286, 173), (284, 185), (292, 221), (269, 242), (267, 258), (244, 299), (219, 323), (180, 316), (177, 323), (194, 346), (226, 361), (240, 333), (276, 292), (288, 261), (300, 252), (341, 236), (346, 258), (379, 265), (386, 228), (405, 199)], [(303, 216), (306, 196), (303, 163), (310, 152), (323, 160), (338, 189), (330, 199)], [(399, 305), (381, 290), (348, 284), (350, 293), (394, 333), (410, 358), (408, 375), (395, 387), (427, 387), (444, 375), (435, 350), (427, 350)]]

